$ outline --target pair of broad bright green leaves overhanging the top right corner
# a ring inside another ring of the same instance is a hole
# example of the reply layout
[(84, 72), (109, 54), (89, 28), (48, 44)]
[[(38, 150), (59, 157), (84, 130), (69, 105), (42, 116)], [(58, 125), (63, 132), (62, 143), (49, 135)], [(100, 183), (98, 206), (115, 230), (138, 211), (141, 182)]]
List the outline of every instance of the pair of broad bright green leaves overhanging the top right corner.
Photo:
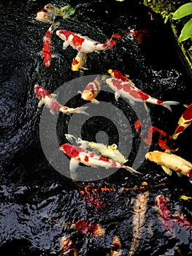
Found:
[[(192, 3), (183, 4), (174, 12), (172, 19), (178, 20), (191, 14), (192, 14)], [(192, 35), (192, 18), (188, 20), (188, 22), (185, 23), (185, 25), (183, 26), (183, 29), (180, 32), (180, 37), (178, 38), (178, 41), (183, 42), (186, 39), (191, 38), (191, 35)]]

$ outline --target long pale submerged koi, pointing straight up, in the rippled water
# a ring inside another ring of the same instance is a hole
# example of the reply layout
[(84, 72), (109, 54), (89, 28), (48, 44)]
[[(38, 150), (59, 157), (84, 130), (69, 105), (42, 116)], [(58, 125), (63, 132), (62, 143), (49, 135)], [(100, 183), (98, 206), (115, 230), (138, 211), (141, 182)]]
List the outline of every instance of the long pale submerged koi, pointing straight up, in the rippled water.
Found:
[[(142, 182), (142, 186), (147, 186), (147, 182)], [(147, 202), (149, 200), (149, 190), (140, 192), (134, 200), (133, 213), (133, 238), (128, 256), (134, 255), (139, 246), (139, 241), (142, 237), (142, 228), (145, 224), (145, 214), (147, 211)]]

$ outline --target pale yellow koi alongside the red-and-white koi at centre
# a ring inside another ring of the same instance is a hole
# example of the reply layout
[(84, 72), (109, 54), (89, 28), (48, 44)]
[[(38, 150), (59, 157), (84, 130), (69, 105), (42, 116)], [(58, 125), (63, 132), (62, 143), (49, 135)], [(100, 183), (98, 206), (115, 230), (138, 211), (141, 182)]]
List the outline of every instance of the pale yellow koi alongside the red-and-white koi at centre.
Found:
[[(73, 135), (65, 135), (66, 139), (69, 141), (72, 141), (71, 139), (74, 138)], [(110, 158), (116, 162), (122, 162), (123, 164), (128, 162), (128, 159), (126, 159), (123, 154), (118, 151), (118, 146), (116, 144), (112, 145), (104, 145), (103, 143), (96, 143), (91, 142), (88, 140), (81, 140), (80, 138), (74, 138), (77, 144), (80, 144), (80, 147), (83, 149), (86, 148), (93, 148), (94, 150), (98, 151), (99, 154), (101, 154), (102, 157)]]

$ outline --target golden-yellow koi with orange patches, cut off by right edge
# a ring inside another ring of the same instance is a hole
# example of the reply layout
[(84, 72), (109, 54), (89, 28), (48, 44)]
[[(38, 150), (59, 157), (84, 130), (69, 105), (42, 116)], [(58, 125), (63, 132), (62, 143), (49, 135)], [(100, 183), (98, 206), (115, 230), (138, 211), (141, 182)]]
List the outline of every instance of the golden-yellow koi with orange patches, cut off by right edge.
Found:
[(161, 165), (166, 174), (172, 175), (172, 170), (178, 176), (185, 175), (192, 178), (192, 164), (175, 154), (161, 151), (151, 151), (145, 155), (146, 159)]

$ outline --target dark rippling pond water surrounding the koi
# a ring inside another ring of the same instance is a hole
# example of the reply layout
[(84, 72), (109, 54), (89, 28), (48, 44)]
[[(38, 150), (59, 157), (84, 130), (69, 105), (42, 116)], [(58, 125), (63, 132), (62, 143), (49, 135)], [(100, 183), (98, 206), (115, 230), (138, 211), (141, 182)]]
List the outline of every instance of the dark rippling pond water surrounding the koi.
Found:
[[(70, 5), (75, 10), (69, 18), (55, 18), (58, 30), (74, 31), (98, 42), (106, 42), (112, 34), (120, 34), (120, 39), (109, 50), (88, 53), (88, 69), (72, 71), (77, 50), (71, 46), (64, 50), (64, 41), (54, 31), (51, 51), (55, 57), (45, 67), (41, 52), (50, 23), (35, 18), (49, 3), (0, 4), (1, 255), (59, 255), (64, 236), (76, 244), (79, 255), (113, 255), (115, 236), (121, 244), (119, 255), (128, 255), (133, 243), (133, 255), (191, 255), (191, 178), (174, 171), (169, 176), (160, 165), (145, 159), (147, 151), (164, 151), (160, 142), (167, 140), (174, 154), (192, 162), (191, 126), (174, 143), (169, 140), (186, 105), (191, 104), (191, 78), (169, 26), (141, 1), (52, 1), (57, 7)], [(129, 75), (137, 88), (155, 99), (180, 104), (172, 105), (170, 111), (147, 103), (146, 110), (143, 102), (133, 105), (123, 97), (116, 100), (106, 83), (96, 97), (99, 104), (83, 100), (78, 91), (96, 75), (110, 78), (109, 69)], [(52, 115), (48, 108), (38, 108), (36, 84), (57, 94), (58, 102), (70, 108), (88, 106), (89, 116)], [(157, 132), (149, 142), (150, 127)], [(125, 165), (140, 174), (80, 164), (74, 181), (69, 175), (69, 157), (59, 151), (63, 143), (70, 143), (66, 133), (117, 144), (128, 159)], [(155, 206), (158, 195), (167, 200), (169, 227)], [(139, 200), (142, 203), (137, 206)], [(142, 214), (136, 214), (137, 207), (143, 207)], [(96, 233), (98, 227), (104, 230), (101, 236)]]

